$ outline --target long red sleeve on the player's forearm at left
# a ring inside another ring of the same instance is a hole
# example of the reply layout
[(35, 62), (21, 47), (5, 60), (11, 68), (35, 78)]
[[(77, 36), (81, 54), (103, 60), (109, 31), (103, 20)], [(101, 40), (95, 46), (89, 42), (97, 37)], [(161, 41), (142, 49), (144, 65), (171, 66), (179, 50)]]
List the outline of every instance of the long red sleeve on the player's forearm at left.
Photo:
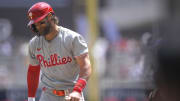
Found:
[(40, 65), (29, 65), (27, 72), (28, 97), (35, 97), (39, 85)]

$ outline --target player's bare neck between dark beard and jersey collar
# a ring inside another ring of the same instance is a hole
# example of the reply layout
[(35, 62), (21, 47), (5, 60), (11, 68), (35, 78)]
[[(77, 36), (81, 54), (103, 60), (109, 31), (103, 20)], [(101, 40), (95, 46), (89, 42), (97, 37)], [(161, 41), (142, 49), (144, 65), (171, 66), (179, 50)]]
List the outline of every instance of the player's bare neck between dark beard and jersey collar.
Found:
[(47, 41), (51, 41), (58, 35), (58, 33), (59, 33), (59, 27), (55, 25), (52, 31), (49, 34), (45, 35), (45, 39)]

